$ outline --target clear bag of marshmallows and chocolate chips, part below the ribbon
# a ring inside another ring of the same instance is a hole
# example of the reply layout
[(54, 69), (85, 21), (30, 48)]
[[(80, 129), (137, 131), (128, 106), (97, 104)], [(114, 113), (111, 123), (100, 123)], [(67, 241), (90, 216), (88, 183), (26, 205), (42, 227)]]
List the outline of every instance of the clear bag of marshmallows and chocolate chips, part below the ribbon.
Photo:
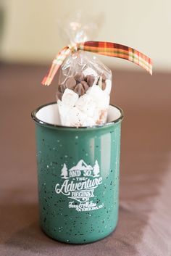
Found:
[(59, 72), (57, 104), (62, 125), (91, 126), (107, 121), (112, 72), (86, 51), (65, 60)]

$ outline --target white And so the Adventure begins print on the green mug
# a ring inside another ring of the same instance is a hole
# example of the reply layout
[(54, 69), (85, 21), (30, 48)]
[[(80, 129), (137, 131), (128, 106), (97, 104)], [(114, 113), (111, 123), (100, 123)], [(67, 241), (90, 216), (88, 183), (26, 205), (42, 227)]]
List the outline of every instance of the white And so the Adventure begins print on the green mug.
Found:
[(62, 185), (56, 184), (55, 191), (57, 194), (62, 193), (71, 199), (68, 205), (69, 208), (84, 212), (104, 207), (103, 204), (97, 205), (96, 202), (93, 202), (94, 191), (102, 183), (97, 160), (93, 167), (80, 160), (70, 170), (67, 169), (67, 165), (64, 163), (61, 178), (64, 181)]

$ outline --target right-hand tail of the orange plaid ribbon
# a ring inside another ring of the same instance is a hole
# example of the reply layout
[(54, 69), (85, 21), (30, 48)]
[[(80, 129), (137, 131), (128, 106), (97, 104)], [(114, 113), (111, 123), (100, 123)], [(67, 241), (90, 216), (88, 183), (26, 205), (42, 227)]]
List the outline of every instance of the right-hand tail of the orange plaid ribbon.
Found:
[(152, 61), (145, 54), (131, 47), (122, 44), (114, 44), (100, 41), (86, 41), (79, 45), (79, 49), (83, 51), (91, 51), (109, 57), (117, 57), (127, 59), (136, 65), (143, 67), (152, 75)]

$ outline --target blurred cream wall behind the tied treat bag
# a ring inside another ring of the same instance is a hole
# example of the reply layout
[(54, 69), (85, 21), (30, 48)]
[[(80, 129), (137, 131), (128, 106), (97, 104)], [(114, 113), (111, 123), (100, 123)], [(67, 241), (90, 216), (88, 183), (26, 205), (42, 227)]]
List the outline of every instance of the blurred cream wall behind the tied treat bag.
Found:
[[(125, 44), (154, 62), (154, 70), (171, 70), (170, 0), (0, 0), (0, 49), (5, 62), (50, 63), (68, 44), (58, 20), (78, 9), (99, 25), (96, 40)], [(135, 65), (101, 57), (115, 68), (140, 70)]]

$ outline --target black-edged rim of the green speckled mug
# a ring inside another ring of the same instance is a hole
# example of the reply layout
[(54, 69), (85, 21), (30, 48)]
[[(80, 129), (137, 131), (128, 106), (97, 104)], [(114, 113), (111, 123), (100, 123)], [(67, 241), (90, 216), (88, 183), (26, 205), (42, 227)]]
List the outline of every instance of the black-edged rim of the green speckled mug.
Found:
[(53, 105), (53, 104), (57, 104), (57, 102), (50, 102), (50, 103), (46, 103), (46, 104), (43, 104), (39, 107), (37, 107), (35, 110), (33, 110), (31, 112), (31, 117), (32, 119), (38, 123), (39, 125), (42, 125), (42, 126), (46, 126), (46, 127), (49, 127), (49, 128), (67, 128), (67, 129), (79, 129), (79, 130), (82, 130), (82, 129), (91, 129), (91, 128), (102, 128), (102, 127), (107, 127), (109, 125), (113, 125), (115, 123), (119, 123), (124, 115), (123, 115), (123, 110), (120, 108), (120, 107), (117, 107), (113, 104), (109, 104), (109, 106), (112, 106), (112, 107), (115, 107), (117, 108), (117, 110), (120, 111), (120, 117), (118, 117), (116, 120), (112, 120), (110, 122), (107, 122), (107, 123), (103, 123), (103, 124), (99, 124), (99, 125), (91, 125), (91, 126), (78, 126), (78, 127), (75, 127), (75, 126), (65, 126), (65, 125), (54, 125), (52, 123), (46, 123), (40, 119), (38, 119), (38, 117), (36, 117), (36, 114), (39, 110), (41, 110), (43, 107), (46, 107), (46, 106), (49, 106), (49, 105)]

